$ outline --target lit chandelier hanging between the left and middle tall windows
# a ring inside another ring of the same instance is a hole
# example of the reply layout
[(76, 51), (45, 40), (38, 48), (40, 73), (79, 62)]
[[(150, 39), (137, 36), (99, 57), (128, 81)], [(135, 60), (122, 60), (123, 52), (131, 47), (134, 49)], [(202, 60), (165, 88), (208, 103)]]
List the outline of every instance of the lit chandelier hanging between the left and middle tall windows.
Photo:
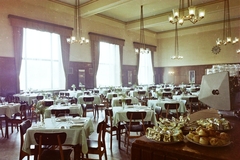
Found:
[(81, 37), (82, 35), (82, 29), (81, 29), (81, 25), (82, 23), (81, 21), (81, 16), (79, 16), (80, 14), (80, 3), (79, 0), (76, 0), (76, 10), (75, 10), (75, 36), (71, 36), (70, 38), (67, 38), (67, 42), (70, 44), (73, 43), (89, 43), (89, 40), (85, 37)]

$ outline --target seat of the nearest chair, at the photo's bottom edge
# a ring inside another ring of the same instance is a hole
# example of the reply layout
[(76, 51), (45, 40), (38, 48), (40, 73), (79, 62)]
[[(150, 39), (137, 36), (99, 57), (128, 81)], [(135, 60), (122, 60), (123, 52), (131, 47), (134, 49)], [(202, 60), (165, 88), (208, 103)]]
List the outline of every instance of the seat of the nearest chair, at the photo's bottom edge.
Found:
[[(64, 156), (64, 160), (70, 160), (70, 154), (72, 153), (71, 149), (65, 149), (63, 150), (63, 156)], [(41, 158), (43, 160), (61, 160), (61, 156), (60, 156), (60, 151), (59, 150), (44, 150)]]

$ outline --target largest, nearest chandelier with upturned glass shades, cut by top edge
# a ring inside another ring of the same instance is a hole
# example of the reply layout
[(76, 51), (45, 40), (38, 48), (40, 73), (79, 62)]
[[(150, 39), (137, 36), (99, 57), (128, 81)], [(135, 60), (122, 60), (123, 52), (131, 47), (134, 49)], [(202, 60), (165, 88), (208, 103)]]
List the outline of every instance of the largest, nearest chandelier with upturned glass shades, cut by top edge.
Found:
[(187, 0), (188, 3), (188, 15), (184, 15), (184, 0), (179, 0), (179, 8), (173, 9), (173, 14), (168, 17), (170, 23), (179, 23), (182, 25), (184, 21), (189, 20), (193, 24), (197, 23), (205, 16), (204, 9), (198, 9), (198, 15), (196, 15), (197, 9), (192, 5), (192, 0)]

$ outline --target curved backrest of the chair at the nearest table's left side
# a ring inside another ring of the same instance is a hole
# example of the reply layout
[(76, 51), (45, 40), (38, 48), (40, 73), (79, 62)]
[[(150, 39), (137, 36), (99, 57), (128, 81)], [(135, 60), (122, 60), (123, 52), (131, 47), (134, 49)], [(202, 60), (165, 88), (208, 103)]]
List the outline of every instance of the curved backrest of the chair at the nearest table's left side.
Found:
[(27, 129), (30, 128), (32, 125), (31, 120), (27, 119), (23, 121), (19, 128), (20, 128), (20, 154), (19, 159), (23, 159), (27, 154), (22, 150), (23, 142), (24, 142), (24, 135), (27, 132)]

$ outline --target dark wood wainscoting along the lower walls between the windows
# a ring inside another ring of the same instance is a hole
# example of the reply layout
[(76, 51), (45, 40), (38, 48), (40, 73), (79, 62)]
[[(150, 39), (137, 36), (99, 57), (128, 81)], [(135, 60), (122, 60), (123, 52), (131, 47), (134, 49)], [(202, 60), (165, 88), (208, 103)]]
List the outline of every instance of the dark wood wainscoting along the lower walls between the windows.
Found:
[[(155, 67), (155, 83), (174, 83), (176, 85), (189, 83), (189, 71), (195, 71), (195, 83), (200, 84), (205, 70), (212, 68), (212, 65), (200, 66), (181, 66), (181, 67)], [(94, 79), (92, 63), (90, 62), (73, 62), (69, 63), (68, 86), (72, 89), (72, 84), (79, 88), (79, 70), (85, 70), (85, 87), (86, 89), (94, 88)], [(169, 74), (174, 72), (174, 74)], [(129, 73), (132, 74), (132, 83), (129, 83)], [(0, 57), (0, 96), (16, 93), (16, 69), (13, 57)], [(172, 79), (171, 79), (172, 78)], [(137, 66), (123, 65), (122, 67), (122, 86), (132, 86), (137, 83)]]

